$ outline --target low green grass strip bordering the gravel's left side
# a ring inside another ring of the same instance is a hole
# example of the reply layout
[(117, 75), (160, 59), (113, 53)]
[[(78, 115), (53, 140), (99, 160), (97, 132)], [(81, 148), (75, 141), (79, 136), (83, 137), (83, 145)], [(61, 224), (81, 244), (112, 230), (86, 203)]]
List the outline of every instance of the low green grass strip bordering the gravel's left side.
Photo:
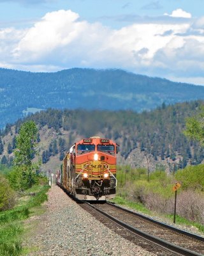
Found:
[[(40, 205), (47, 200), (49, 188), (49, 186), (35, 185), (24, 191), (13, 209), (0, 212), (1, 256), (16, 256), (26, 253), (26, 248), (22, 248), (22, 238), (27, 232), (24, 220), (32, 214), (41, 213)], [(35, 195), (30, 193), (35, 193)]]

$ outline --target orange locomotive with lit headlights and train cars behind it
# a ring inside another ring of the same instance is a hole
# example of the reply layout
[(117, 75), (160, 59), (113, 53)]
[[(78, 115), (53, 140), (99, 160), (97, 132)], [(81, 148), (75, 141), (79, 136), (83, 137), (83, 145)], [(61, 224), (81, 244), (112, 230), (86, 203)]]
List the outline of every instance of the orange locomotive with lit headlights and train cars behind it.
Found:
[(80, 200), (115, 196), (117, 143), (91, 137), (75, 143), (57, 171), (57, 183)]

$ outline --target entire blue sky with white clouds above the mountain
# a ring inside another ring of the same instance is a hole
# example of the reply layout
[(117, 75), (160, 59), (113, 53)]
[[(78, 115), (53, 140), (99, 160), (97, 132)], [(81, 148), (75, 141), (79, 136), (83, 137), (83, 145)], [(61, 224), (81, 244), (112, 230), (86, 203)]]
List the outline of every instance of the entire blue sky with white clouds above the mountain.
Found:
[(0, 67), (204, 85), (204, 0), (0, 0)]

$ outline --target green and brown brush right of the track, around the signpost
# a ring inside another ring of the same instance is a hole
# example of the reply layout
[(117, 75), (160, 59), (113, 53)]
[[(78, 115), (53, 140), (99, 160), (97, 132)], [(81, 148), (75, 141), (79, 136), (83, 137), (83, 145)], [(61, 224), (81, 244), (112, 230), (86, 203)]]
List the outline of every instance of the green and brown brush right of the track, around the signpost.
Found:
[(173, 223), (175, 193), (177, 191), (176, 223), (190, 225), (204, 232), (204, 165), (189, 166), (175, 175), (163, 170), (150, 173), (147, 181), (145, 168), (131, 169), (119, 166), (117, 170), (117, 196), (113, 202), (126, 205), (150, 215), (159, 215)]

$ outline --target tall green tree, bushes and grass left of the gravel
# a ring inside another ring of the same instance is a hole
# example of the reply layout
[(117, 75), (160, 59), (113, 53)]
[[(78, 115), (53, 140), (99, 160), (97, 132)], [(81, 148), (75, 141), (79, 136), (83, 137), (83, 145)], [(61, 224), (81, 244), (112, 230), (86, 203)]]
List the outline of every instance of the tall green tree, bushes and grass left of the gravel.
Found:
[(0, 255), (25, 253), (22, 240), (27, 232), (24, 220), (47, 200), (47, 179), (38, 172), (38, 129), (33, 121), (25, 122), (17, 136), (17, 147), (10, 167), (0, 165)]

